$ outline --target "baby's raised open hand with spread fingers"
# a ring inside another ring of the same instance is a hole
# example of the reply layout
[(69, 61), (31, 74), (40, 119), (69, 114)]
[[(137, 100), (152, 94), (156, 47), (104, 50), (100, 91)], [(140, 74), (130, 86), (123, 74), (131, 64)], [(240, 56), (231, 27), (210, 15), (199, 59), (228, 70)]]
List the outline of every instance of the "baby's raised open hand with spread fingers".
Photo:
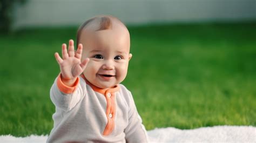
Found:
[(66, 44), (62, 44), (62, 58), (60, 58), (57, 52), (55, 53), (55, 58), (59, 64), (62, 80), (65, 85), (72, 86), (88, 64), (89, 58), (81, 62), (82, 52), (82, 44), (78, 45), (77, 51), (75, 52), (74, 42), (71, 39), (69, 40), (69, 51), (66, 49)]

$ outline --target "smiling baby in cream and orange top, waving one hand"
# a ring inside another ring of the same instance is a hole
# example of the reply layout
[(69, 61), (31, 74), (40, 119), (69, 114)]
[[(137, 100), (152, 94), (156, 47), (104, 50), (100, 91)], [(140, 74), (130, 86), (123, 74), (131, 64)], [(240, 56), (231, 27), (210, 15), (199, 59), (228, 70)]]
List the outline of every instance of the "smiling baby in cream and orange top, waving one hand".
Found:
[(77, 50), (55, 53), (60, 73), (50, 98), (56, 106), (47, 142), (148, 142), (126, 77), (130, 33), (113, 16), (96, 16), (80, 26)]

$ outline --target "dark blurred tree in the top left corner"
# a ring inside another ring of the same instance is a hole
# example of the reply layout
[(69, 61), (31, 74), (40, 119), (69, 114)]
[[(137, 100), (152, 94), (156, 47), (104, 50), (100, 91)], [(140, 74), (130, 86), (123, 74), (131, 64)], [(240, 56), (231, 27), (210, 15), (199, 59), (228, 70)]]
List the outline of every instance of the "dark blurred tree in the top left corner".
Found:
[(14, 17), (14, 5), (26, 0), (0, 0), (0, 32), (8, 33)]

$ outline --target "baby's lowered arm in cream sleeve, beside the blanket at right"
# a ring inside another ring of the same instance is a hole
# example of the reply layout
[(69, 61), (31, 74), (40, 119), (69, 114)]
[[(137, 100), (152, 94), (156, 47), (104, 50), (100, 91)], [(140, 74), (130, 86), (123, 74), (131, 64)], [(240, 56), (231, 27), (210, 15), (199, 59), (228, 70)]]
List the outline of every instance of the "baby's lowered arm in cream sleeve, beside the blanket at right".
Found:
[(142, 124), (142, 118), (137, 111), (137, 108), (134, 104), (134, 100), (132, 98), (132, 94), (130, 93), (130, 110), (128, 112), (129, 115), (129, 124), (125, 128), (125, 139), (126, 142), (132, 143), (146, 143), (149, 142), (149, 137), (147, 135), (146, 129)]

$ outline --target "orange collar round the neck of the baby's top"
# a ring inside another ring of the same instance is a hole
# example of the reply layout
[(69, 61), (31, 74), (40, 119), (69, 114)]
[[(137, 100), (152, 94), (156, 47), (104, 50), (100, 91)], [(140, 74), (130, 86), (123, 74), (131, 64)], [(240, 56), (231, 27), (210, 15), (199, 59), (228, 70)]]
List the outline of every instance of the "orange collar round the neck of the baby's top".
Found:
[(109, 88), (99, 88), (93, 84), (91, 84), (84, 76), (84, 74), (81, 74), (81, 77), (85, 80), (86, 84), (90, 85), (93, 89), (93, 91), (102, 93), (102, 94), (106, 94), (106, 93), (112, 93), (112, 92), (117, 92), (119, 91), (120, 86), (119, 85), (114, 85), (113, 87), (109, 87)]

